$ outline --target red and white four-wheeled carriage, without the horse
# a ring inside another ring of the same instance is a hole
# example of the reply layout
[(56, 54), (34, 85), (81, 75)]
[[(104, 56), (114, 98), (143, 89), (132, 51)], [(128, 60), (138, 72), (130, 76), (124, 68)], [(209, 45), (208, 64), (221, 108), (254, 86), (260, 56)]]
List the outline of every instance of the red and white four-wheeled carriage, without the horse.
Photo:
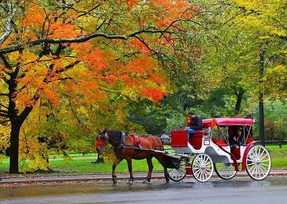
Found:
[[(253, 180), (265, 179), (271, 170), (268, 150), (253, 141), (252, 119), (203, 119), (203, 130), (194, 133), (187, 141), (187, 130), (171, 131), (171, 147), (166, 153), (167, 168), (172, 181), (181, 181), (192, 174), (199, 182), (211, 179), (213, 172), (224, 180), (238, 171), (247, 171)], [(230, 151), (228, 136), (241, 127), (244, 143)]]

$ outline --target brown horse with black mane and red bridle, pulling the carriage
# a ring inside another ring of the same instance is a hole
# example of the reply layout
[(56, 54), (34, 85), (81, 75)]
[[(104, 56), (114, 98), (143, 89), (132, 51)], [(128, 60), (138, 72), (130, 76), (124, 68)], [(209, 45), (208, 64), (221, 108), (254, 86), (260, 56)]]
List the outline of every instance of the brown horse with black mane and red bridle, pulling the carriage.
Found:
[(151, 150), (164, 150), (163, 142), (154, 136), (144, 136), (138, 137), (133, 134), (125, 134), (122, 131), (111, 130), (107, 131), (107, 129), (103, 131), (99, 131), (96, 142), (96, 150), (97, 152), (102, 151), (102, 149), (110, 143), (112, 148), (115, 151), (116, 160), (113, 164), (113, 183), (117, 183), (116, 176), (116, 166), (122, 161), (126, 160), (128, 171), (129, 171), (129, 181), (127, 184), (133, 184), (134, 176), (132, 172), (132, 159), (142, 160), (146, 159), (148, 165), (148, 174), (143, 183), (150, 183), (151, 172), (153, 169), (152, 165), (152, 157), (155, 157), (164, 167), (164, 174), (166, 182), (169, 182), (169, 174), (166, 168), (166, 162), (164, 155), (159, 152), (149, 151), (144, 149)]

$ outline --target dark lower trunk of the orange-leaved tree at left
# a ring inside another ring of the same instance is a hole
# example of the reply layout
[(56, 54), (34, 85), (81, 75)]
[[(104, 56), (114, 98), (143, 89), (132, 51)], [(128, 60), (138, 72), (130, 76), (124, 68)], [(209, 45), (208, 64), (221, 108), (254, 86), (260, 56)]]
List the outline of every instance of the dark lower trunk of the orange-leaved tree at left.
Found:
[(21, 123), (18, 121), (11, 122), (10, 132), (10, 169), (9, 173), (19, 172), (19, 133)]

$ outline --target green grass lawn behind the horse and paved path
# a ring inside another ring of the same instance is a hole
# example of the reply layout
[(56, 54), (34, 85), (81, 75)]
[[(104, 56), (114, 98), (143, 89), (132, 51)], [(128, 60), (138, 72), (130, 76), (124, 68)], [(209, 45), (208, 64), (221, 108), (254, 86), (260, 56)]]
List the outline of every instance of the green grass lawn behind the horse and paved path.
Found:
[[(287, 145), (282, 145), (282, 148), (279, 149), (278, 145), (268, 145), (266, 146), (270, 152), (272, 159), (272, 168), (287, 168)], [(166, 146), (165, 148), (170, 148)], [(169, 150), (170, 151), (170, 150)], [(49, 159), (51, 168), (54, 170), (53, 174), (77, 174), (77, 173), (111, 173), (112, 172), (112, 163), (103, 163), (103, 164), (91, 164), (95, 162), (97, 155), (96, 154), (70, 154), (70, 160), (63, 160), (62, 156), (52, 156)], [(0, 173), (8, 174), (9, 171), (9, 158), (4, 158), (3, 164), (0, 165)], [(153, 171), (163, 171), (161, 164), (153, 158)], [(22, 166), (22, 163), (19, 163), (19, 168)], [(28, 162), (24, 164), (28, 166)], [(117, 173), (127, 172), (126, 161), (122, 161), (116, 168)], [(148, 167), (146, 160), (133, 160), (133, 172), (147, 172)], [(39, 173), (34, 173), (39, 174)]]

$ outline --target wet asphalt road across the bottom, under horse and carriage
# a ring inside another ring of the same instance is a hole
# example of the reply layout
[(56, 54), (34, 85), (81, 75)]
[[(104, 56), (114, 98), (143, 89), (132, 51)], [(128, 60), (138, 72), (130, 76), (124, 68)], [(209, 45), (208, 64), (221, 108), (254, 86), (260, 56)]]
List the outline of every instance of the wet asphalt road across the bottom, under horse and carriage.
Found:
[(85, 182), (0, 186), (0, 203), (268, 203), (287, 202), (287, 177), (268, 177), (263, 181), (233, 178), (211, 179), (199, 183), (194, 179), (151, 184), (135, 181)]

